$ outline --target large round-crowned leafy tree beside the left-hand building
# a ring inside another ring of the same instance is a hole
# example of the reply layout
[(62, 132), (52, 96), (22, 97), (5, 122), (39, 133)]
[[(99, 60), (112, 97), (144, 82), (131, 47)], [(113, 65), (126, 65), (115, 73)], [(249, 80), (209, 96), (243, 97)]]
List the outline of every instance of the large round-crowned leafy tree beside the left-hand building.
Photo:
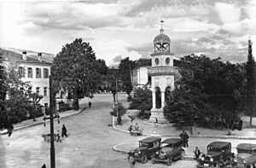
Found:
[(79, 98), (93, 97), (102, 84), (102, 67), (103, 61), (96, 60), (90, 43), (76, 38), (56, 55), (51, 74), (56, 81), (55, 87), (73, 92), (74, 109), (79, 109)]

